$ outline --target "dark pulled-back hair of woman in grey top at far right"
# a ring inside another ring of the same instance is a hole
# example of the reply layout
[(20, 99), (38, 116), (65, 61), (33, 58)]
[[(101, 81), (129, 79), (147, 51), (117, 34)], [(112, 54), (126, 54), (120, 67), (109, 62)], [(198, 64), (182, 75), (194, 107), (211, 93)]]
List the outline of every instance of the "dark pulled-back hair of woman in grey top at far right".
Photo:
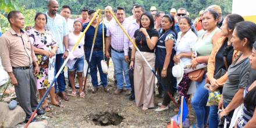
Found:
[(247, 47), (253, 49), (253, 43), (256, 41), (256, 24), (253, 22), (239, 22), (235, 29), (239, 39), (247, 38)]

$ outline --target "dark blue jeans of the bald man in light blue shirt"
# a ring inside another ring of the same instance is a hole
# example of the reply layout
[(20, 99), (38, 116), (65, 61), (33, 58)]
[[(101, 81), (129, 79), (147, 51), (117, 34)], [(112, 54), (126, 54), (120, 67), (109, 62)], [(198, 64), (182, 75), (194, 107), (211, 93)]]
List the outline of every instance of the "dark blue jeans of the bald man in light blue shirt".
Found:
[[(56, 54), (56, 60), (55, 60), (55, 75), (56, 73), (59, 72), (59, 69), (61, 69), (61, 66), (64, 62), (64, 59), (62, 58), (63, 54)], [(58, 78), (57, 78), (57, 84), (55, 82), (55, 93), (59, 92), (62, 93), (63, 91), (65, 91), (65, 86), (66, 86), (66, 82), (65, 82), (65, 76), (64, 76), (64, 72), (63, 69), (61, 71), (61, 73), (59, 74)], [(59, 89), (57, 91), (57, 89)]]

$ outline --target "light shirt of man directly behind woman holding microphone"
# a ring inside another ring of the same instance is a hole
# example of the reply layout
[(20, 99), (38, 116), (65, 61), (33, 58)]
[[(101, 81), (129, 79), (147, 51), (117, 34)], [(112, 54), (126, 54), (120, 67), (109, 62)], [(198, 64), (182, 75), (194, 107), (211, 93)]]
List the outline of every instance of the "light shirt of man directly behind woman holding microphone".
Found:
[[(125, 30), (129, 34), (131, 39), (133, 39), (135, 31), (137, 29), (140, 29), (140, 25), (137, 23), (136, 19), (135, 20), (130, 20), (129, 22), (131, 22), (131, 23), (127, 24)], [(123, 51), (125, 51), (125, 56), (126, 56), (126, 55), (128, 55), (129, 47), (133, 48), (133, 44), (130, 42), (130, 40), (127, 36), (125, 36), (124, 40), (125, 40), (125, 42), (123, 42), (123, 47), (124, 47)]]

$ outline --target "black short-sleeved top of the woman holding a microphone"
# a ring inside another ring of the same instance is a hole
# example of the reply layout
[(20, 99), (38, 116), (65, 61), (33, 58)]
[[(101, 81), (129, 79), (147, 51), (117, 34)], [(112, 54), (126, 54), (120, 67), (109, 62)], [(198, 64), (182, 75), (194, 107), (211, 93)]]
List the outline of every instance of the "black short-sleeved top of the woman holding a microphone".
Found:
[[(150, 38), (159, 37), (158, 31), (155, 29), (147, 30), (147, 33), (148, 35), (150, 35)], [(142, 32), (140, 32), (140, 29), (135, 31), (134, 38), (135, 38), (136, 45), (141, 52), (151, 52), (151, 53), (155, 52), (155, 49), (151, 50), (150, 48), (148, 48), (146, 37)]]

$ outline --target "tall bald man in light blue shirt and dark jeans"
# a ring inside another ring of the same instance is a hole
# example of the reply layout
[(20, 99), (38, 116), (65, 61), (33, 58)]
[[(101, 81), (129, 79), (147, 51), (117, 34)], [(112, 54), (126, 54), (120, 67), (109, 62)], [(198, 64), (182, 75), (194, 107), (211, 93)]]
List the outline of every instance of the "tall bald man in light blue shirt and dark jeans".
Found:
[[(67, 35), (69, 34), (69, 29), (67, 27), (67, 23), (64, 17), (57, 14), (57, 10), (59, 4), (56, 0), (49, 0), (48, 1), (48, 11), (46, 12), (47, 15), (47, 24), (46, 28), (49, 29), (52, 34), (54, 35), (56, 41), (58, 42), (59, 48), (56, 52), (56, 61), (55, 61), (55, 72), (57, 73), (64, 62), (64, 59), (67, 57), (69, 48), (67, 42)], [(58, 93), (62, 99), (65, 101), (69, 101), (65, 92), (65, 77), (64, 72), (62, 70), (61, 74), (59, 74), (57, 78), (57, 85), (55, 86), (55, 93), (58, 88)]]

